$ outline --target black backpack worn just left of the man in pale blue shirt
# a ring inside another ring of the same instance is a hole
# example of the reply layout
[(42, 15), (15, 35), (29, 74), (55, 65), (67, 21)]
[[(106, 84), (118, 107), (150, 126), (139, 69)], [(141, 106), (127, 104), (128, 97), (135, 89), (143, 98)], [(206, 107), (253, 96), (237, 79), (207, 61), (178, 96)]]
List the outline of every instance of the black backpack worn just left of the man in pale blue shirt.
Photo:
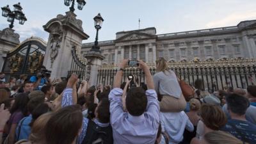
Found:
[(113, 144), (112, 127), (100, 127), (92, 120), (89, 120), (86, 136), (82, 144)]

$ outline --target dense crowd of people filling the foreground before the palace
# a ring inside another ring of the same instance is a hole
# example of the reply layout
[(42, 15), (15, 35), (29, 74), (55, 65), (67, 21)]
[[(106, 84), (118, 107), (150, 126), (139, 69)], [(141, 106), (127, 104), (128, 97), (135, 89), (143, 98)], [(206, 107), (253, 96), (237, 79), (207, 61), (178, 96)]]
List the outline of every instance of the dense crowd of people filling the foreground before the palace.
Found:
[(113, 86), (92, 86), (76, 74), (36, 74), (6, 81), (0, 73), (0, 143), (4, 144), (218, 144), (256, 143), (256, 86), (209, 93), (196, 79), (185, 95), (163, 58), (145, 83), (125, 77), (123, 60)]

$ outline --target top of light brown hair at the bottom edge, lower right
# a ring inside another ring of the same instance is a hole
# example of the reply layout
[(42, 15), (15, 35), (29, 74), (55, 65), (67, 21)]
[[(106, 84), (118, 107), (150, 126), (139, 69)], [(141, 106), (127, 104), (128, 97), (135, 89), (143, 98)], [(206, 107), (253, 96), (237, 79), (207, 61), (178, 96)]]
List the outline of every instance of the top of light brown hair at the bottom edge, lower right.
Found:
[(204, 140), (209, 144), (243, 144), (243, 141), (223, 131), (208, 132), (204, 135)]

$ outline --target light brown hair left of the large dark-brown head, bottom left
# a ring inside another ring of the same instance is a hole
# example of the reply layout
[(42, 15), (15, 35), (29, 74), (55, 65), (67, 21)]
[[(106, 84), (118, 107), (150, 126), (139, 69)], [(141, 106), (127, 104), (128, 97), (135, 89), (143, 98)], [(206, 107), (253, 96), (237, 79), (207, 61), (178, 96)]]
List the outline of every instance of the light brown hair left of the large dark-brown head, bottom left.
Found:
[(51, 116), (52, 113), (50, 112), (45, 113), (36, 119), (31, 129), (31, 134), (29, 135), (29, 141), (32, 143), (42, 143), (42, 141), (45, 141), (45, 125)]

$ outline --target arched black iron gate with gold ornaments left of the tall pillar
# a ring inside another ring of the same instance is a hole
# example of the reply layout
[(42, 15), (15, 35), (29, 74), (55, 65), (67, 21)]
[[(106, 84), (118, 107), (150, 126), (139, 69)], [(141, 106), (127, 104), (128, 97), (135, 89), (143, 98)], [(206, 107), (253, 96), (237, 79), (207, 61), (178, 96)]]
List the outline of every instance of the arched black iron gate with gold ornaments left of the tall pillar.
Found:
[(4, 58), (2, 72), (6, 78), (19, 77), (20, 74), (31, 76), (42, 67), (46, 50), (46, 42), (38, 37), (24, 40)]

